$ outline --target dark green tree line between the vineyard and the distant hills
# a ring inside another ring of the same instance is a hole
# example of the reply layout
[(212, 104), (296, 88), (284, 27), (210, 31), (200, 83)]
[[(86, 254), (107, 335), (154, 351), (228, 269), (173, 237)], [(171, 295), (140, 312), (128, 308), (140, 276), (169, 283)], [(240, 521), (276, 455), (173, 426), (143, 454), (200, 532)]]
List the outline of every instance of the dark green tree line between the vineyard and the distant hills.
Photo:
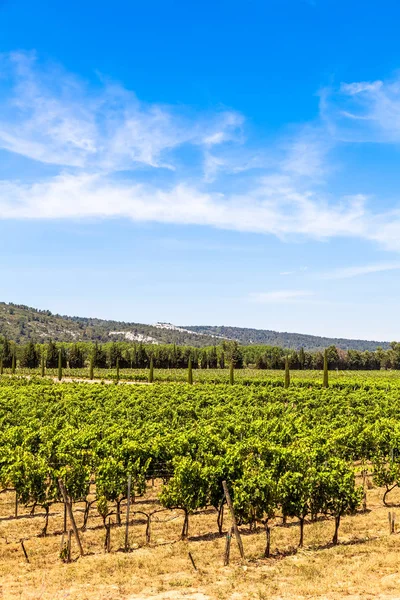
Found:
[[(224, 369), (233, 364), (235, 369), (318, 369), (324, 367), (324, 352), (284, 349), (277, 346), (241, 346), (235, 341), (223, 341), (218, 346), (197, 348), (176, 344), (144, 344), (109, 342), (105, 344), (77, 342), (61, 343), (49, 340), (47, 344), (20, 345), (8, 338), (0, 340), (0, 360), (4, 368), (13, 361), (23, 368), (35, 369), (42, 361), (46, 368), (147, 369)], [(340, 350), (335, 346), (326, 349), (329, 369), (379, 370), (400, 369), (400, 343), (392, 342), (390, 348), (376, 351)]]

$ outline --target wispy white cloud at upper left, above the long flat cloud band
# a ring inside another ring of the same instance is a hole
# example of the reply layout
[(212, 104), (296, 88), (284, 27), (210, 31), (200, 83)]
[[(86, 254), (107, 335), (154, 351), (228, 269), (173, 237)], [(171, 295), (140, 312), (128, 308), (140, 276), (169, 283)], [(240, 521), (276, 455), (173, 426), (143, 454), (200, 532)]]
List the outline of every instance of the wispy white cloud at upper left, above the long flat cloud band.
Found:
[(172, 106), (146, 104), (107, 81), (89, 91), (59, 68), (40, 69), (32, 54), (1, 58), (11, 93), (0, 103), (0, 147), (43, 163), (108, 171), (173, 169), (174, 149), (228, 142), (243, 124), (230, 110), (184, 115)]

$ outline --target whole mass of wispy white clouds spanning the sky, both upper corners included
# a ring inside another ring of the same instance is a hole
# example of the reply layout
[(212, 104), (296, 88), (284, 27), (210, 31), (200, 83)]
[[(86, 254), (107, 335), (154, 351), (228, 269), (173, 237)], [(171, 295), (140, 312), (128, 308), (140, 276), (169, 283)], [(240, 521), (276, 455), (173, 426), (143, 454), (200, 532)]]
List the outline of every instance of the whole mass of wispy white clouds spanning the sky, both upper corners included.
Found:
[[(326, 185), (342, 122), (353, 138), (355, 122), (363, 132), (371, 122), (375, 132), (391, 126), (400, 141), (396, 82), (325, 91), (321, 121), (255, 148), (234, 110), (147, 104), (120, 84), (88, 86), (32, 54), (3, 55), (0, 73), (0, 148), (38, 165), (34, 183), (23, 173), (0, 181), (2, 219), (121, 217), (283, 240), (353, 237), (400, 251), (400, 208), (374, 210), (365, 194), (335, 197)], [(41, 175), (40, 163), (57, 174)]]

